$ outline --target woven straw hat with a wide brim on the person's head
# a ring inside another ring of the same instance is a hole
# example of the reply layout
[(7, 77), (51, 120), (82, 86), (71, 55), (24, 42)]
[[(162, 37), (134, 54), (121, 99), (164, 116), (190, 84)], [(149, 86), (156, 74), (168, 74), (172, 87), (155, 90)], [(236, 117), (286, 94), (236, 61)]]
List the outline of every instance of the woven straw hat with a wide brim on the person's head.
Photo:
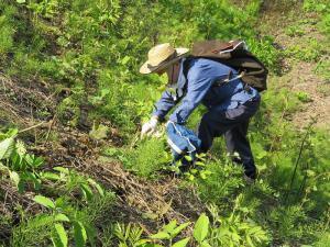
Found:
[(167, 68), (189, 52), (188, 48), (173, 48), (169, 43), (156, 45), (147, 53), (147, 61), (141, 68), (141, 74), (151, 74)]

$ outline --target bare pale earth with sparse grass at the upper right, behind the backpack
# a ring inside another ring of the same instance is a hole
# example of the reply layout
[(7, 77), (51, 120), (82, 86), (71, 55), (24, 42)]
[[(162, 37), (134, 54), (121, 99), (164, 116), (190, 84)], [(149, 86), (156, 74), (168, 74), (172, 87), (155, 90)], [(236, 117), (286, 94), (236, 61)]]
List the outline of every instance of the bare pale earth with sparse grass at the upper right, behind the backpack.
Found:
[(279, 9), (271, 3), (265, 7), (261, 18), (261, 32), (272, 33), (274, 42), (284, 55), (283, 75), (273, 78), (274, 87), (293, 90), (293, 94), (304, 103), (293, 115), (295, 126), (302, 128), (316, 119), (318, 127), (329, 128), (329, 33), (327, 35), (327, 31), (321, 26), (322, 12), (308, 11), (306, 3), (305, 11), (297, 8), (302, 9), (304, 5), (297, 3)]

